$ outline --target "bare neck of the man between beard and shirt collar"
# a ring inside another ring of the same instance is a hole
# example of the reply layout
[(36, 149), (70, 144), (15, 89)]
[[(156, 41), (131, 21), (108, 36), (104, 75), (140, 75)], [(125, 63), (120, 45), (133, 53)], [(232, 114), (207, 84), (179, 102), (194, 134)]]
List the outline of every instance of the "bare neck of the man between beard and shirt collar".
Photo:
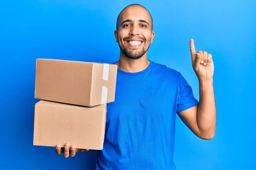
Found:
[(139, 59), (130, 59), (121, 51), (119, 61), (116, 62), (116, 65), (122, 71), (136, 73), (145, 70), (149, 63), (150, 61), (147, 59), (147, 53), (145, 53)]

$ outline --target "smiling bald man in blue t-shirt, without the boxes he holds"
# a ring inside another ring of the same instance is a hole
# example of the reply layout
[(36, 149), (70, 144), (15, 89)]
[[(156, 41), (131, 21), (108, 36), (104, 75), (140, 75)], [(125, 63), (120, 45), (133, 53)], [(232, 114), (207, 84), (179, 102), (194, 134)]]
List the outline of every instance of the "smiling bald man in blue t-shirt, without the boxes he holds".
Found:
[[(190, 40), (192, 67), (199, 80), (200, 102), (180, 72), (147, 59), (154, 39), (153, 20), (138, 4), (125, 7), (117, 17), (120, 47), (115, 102), (108, 104), (104, 148), (97, 170), (175, 169), (175, 118), (201, 139), (215, 134), (216, 108), (211, 54), (196, 53)], [(75, 156), (75, 146), (56, 147), (64, 157)]]

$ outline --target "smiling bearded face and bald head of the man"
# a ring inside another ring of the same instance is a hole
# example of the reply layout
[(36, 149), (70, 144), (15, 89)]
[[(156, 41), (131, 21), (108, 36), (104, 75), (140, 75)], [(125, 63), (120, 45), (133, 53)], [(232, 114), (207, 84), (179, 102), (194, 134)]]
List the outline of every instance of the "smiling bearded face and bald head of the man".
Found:
[(115, 37), (124, 56), (131, 59), (143, 57), (154, 38), (151, 15), (141, 6), (125, 8), (119, 17)]

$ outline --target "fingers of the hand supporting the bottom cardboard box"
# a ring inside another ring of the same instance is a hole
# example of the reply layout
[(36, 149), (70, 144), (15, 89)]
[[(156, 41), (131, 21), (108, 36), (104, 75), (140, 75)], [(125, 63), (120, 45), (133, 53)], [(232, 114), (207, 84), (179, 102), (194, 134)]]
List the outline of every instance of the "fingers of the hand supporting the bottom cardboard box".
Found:
[(84, 152), (87, 151), (88, 149), (76, 149), (75, 146), (70, 145), (70, 144), (65, 144), (64, 147), (61, 147), (60, 145), (57, 145), (55, 148), (55, 152), (60, 155), (63, 153), (65, 158), (68, 158), (69, 156), (73, 157), (76, 155), (77, 152)]

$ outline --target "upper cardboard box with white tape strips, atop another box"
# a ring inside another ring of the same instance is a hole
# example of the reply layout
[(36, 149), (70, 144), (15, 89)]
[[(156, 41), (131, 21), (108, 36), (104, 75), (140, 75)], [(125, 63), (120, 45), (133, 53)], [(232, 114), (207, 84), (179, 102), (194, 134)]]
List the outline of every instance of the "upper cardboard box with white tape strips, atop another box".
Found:
[(35, 98), (94, 107), (114, 102), (117, 65), (37, 59)]

